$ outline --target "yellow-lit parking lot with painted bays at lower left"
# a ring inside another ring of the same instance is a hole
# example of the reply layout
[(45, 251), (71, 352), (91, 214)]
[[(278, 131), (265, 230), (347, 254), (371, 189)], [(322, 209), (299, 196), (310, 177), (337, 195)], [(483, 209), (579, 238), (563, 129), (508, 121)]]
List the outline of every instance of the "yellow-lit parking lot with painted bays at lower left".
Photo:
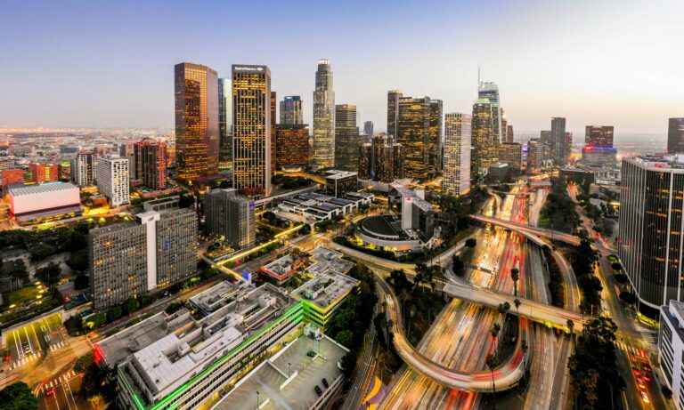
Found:
[(66, 346), (69, 336), (60, 315), (54, 314), (11, 330), (6, 340), (10, 369), (14, 369), (37, 360), (43, 352)]

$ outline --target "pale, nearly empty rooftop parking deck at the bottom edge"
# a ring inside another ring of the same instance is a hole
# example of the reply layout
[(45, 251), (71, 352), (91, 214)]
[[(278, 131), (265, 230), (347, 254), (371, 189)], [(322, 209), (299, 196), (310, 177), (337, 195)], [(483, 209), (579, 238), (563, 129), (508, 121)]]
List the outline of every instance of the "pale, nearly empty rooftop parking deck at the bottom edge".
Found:
[[(281, 356), (267, 360), (248, 374), (215, 409), (252, 410), (256, 408), (257, 399), (261, 409), (308, 409), (319, 398), (314, 386), (326, 390), (322, 379), (330, 385), (341, 375), (337, 364), (346, 353), (328, 339), (320, 341), (320, 355), (318, 351), (319, 342), (301, 336)], [(313, 352), (310, 354), (314, 358), (307, 356), (309, 352)], [(281, 385), (296, 372), (297, 375), (281, 389)]]

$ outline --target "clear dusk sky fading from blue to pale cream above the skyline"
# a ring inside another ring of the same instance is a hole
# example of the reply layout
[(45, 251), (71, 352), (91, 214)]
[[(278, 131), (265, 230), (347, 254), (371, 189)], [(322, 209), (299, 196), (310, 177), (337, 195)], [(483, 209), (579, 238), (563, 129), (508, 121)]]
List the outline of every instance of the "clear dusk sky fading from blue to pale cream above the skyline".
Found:
[(469, 112), (477, 68), (517, 131), (684, 117), (684, 2), (0, 2), (0, 127), (172, 127), (174, 65), (271, 68), (311, 124), (317, 60), (359, 126), (386, 128), (387, 90)]

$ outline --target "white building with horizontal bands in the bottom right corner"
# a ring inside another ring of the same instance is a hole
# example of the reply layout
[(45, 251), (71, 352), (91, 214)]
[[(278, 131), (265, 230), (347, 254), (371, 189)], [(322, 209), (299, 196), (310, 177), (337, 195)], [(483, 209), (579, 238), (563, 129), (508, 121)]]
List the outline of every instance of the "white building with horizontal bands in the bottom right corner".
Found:
[(670, 301), (660, 310), (660, 368), (678, 409), (684, 409), (684, 303)]

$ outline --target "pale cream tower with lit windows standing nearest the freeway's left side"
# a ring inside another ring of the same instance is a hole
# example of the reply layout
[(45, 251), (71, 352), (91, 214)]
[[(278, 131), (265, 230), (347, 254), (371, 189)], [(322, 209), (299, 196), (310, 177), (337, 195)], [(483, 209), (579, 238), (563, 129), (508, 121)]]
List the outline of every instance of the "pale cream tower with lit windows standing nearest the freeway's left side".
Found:
[(471, 117), (444, 115), (444, 175), (442, 190), (447, 195), (463, 195), (470, 189)]

